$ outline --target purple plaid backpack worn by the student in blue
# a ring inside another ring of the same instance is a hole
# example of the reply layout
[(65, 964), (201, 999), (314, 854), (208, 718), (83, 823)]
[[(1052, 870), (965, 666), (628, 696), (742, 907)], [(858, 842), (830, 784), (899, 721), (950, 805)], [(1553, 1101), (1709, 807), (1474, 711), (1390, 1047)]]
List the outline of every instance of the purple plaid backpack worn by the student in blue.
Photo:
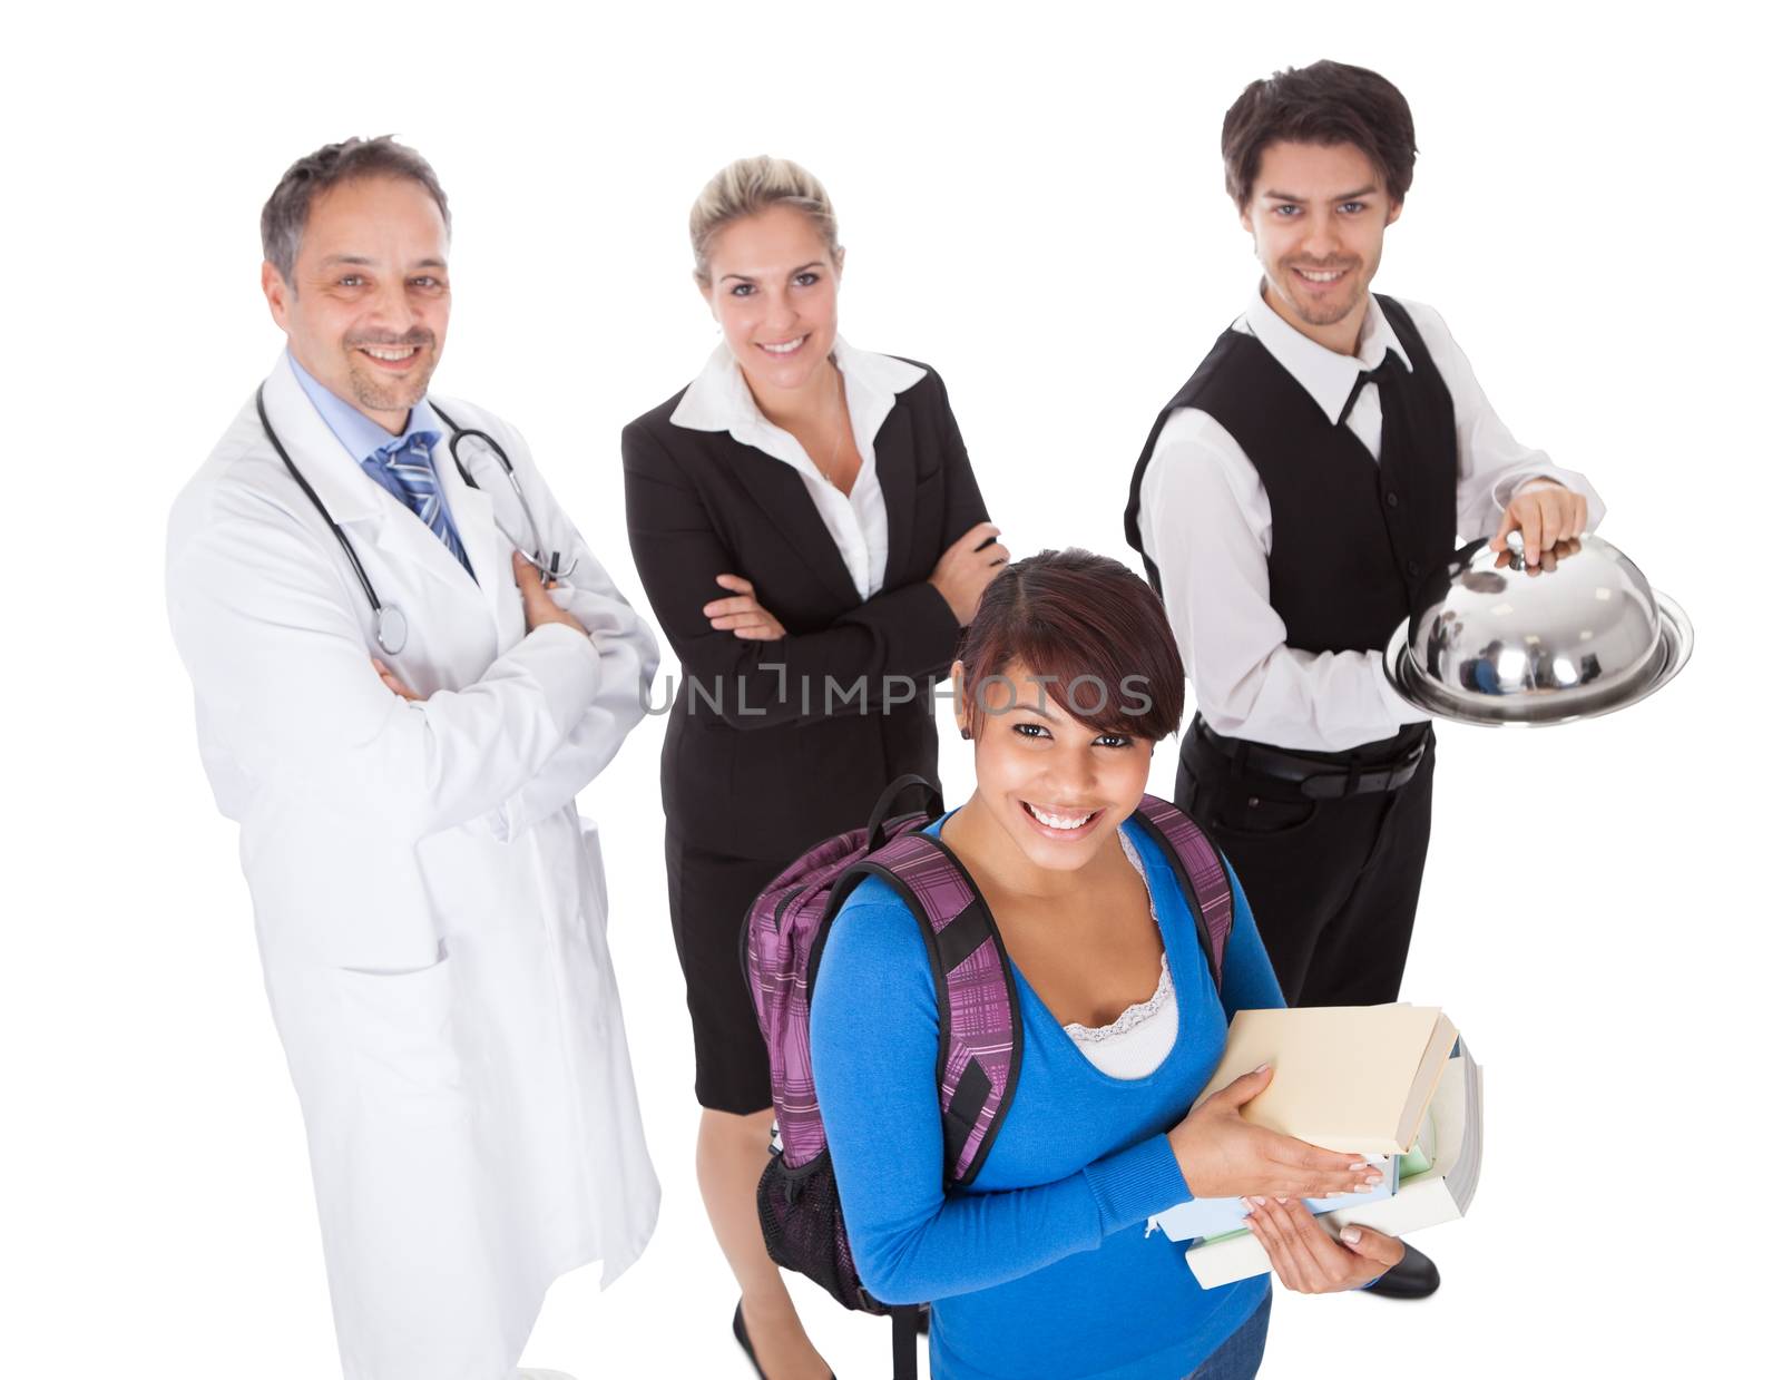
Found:
[[(911, 788), (927, 793), (927, 808), (891, 817), (891, 806)], [(854, 1268), (811, 1075), (811, 991), (843, 902), (866, 877), (884, 877), (927, 922), (923, 938), (941, 1009), (936, 1082), (946, 1187), (969, 1184), (1014, 1098), (1021, 1025), (1014, 973), (984, 897), (952, 850), (921, 833), (939, 813), (941, 792), (934, 784), (920, 776), (898, 777), (864, 829), (823, 840), (768, 883), (743, 927), (743, 966), (768, 1047), (779, 1125), (779, 1143), (756, 1191), (768, 1255), (809, 1275), (848, 1309), (893, 1314), (900, 1376), (916, 1375), (914, 1310), (879, 1303)], [(1146, 795), (1132, 818), (1174, 867), (1217, 984), (1231, 932), (1231, 886), (1219, 850), (1187, 815), (1155, 795)]]

